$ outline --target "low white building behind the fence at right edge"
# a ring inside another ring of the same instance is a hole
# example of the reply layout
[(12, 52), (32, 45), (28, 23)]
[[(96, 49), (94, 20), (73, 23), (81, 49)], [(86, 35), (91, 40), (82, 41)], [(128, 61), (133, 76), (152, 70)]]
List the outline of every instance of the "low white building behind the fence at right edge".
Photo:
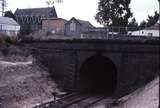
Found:
[(159, 29), (159, 23), (156, 23), (154, 26), (145, 28), (138, 31), (130, 31), (128, 32), (129, 35), (132, 36), (153, 36), (153, 37), (159, 37), (160, 35), (160, 29)]

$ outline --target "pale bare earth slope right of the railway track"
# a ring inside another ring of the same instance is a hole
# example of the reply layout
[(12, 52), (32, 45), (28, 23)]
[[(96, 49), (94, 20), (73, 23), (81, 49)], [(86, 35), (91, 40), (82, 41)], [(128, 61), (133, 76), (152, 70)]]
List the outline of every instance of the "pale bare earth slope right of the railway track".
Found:
[(114, 108), (159, 108), (159, 77), (119, 100), (123, 103)]

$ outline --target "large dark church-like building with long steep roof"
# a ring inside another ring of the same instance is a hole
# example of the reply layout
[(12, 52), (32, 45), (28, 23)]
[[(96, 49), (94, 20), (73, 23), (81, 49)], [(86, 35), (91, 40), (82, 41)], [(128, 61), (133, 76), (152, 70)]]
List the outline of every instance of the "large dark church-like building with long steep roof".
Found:
[(14, 13), (16, 21), (21, 25), (21, 32), (31, 32), (42, 29), (43, 18), (57, 18), (54, 7), (17, 9)]

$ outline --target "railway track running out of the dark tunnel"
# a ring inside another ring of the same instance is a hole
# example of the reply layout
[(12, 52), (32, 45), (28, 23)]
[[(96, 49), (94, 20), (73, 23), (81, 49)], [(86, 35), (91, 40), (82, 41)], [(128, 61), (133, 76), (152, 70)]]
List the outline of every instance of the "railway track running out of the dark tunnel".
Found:
[(94, 105), (104, 100), (105, 104), (110, 104), (114, 101), (114, 99), (107, 97), (105, 94), (72, 93), (56, 101), (43, 103), (33, 108), (94, 108)]

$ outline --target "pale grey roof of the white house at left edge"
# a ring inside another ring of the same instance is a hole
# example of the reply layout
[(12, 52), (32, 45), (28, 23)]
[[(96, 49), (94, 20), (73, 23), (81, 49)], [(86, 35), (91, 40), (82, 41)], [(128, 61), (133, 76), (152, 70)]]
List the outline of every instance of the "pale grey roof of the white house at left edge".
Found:
[(14, 19), (8, 18), (8, 17), (1, 17), (1, 16), (0, 16), (0, 24), (19, 26), (19, 24)]

